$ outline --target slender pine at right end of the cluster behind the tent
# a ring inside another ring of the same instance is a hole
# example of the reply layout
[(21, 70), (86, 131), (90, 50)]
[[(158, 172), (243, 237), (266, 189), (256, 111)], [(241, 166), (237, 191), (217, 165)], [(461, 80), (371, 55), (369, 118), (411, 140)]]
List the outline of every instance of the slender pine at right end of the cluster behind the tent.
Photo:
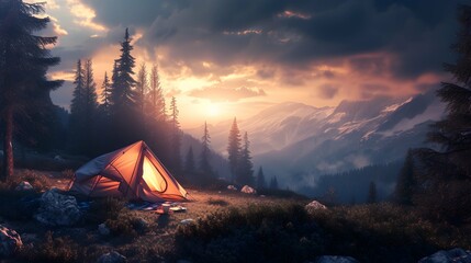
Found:
[(176, 173), (180, 172), (181, 168), (181, 130), (180, 123), (178, 122), (179, 111), (177, 108), (177, 99), (175, 96), (171, 98), (170, 102), (170, 149), (171, 149), (171, 161), (172, 167)]

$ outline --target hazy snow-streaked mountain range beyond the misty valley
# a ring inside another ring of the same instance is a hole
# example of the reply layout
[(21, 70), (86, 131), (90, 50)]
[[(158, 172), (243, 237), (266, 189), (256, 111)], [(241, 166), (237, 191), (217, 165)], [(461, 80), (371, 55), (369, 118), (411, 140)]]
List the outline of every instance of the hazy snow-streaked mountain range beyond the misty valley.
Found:
[[(256, 167), (296, 188), (322, 174), (401, 160), (408, 148), (426, 144), (429, 124), (442, 117), (444, 108), (433, 91), (343, 101), (336, 107), (288, 102), (238, 119), (238, 125), (248, 132)], [(210, 126), (212, 147), (223, 155), (231, 123)], [(186, 132), (197, 136), (201, 130)]]

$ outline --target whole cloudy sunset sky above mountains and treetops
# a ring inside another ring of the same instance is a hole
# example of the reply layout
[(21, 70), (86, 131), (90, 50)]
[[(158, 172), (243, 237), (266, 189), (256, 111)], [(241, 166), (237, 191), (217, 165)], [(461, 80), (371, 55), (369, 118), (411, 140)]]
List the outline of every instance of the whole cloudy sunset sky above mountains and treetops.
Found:
[(125, 28), (138, 71), (158, 66), (182, 128), (245, 118), (276, 103), (316, 107), (408, 96), (450, 77), (458, 0), (47, 0), (52, 49), (68, 107), (78, 59), (92, 59), (98, 92)]

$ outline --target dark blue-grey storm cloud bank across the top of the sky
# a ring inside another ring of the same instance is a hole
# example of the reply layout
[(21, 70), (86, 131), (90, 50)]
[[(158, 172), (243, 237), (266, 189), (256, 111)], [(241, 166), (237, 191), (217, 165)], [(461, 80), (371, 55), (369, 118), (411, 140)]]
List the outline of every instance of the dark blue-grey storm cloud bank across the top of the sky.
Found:
[[(202, 73), (208, 69), (194, 61), (304, 68), (377, 53), (393, 60), (375, 70), (414, 78), (452, 60), (448, 50), (458, 30), (458, 0), (83, 1), (98, 22), (144, 28), (138, 45), (168, 47), (171, 60)], [(362, 62), (371, 71), (374, 61)]]

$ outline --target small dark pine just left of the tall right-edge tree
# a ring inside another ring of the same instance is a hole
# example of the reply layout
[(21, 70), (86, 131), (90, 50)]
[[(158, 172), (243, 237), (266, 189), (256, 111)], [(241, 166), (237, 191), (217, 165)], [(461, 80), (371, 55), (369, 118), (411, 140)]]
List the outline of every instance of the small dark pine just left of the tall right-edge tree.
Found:
[(413, 151), (408, 150), (405, 157), (404, 165), (397, 176), (397, 183), (394, 190), (395, 202), (401, 205), (412, 205), (412, 198), (416, 181), (414, 178), (414, 156)]

